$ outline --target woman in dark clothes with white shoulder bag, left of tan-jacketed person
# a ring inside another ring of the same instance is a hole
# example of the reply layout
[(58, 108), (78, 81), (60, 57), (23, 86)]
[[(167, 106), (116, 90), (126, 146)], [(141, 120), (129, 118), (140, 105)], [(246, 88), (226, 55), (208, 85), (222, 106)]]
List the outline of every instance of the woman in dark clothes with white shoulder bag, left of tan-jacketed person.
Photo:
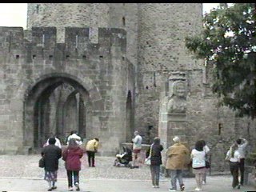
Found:
[(154, 142), (147, 151), (147, 156), (150, 156), (150, 174), (152, 179), (152, 187), (159, 188), (159, 178), (160, 178), (160, 165), (162, 164), (161, 151), (163, 150), (160, 144), (160, 138), (154, 138)]

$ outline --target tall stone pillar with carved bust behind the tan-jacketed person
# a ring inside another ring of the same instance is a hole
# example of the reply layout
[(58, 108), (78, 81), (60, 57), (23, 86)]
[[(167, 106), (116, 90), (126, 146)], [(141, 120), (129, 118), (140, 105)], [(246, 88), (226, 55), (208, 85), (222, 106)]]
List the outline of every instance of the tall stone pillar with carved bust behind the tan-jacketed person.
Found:
[[(188, 91), (188, 81), (186, 79), (186, 71), (174, 70), (170, 71), (170, 77), (162, 86), (160, 96), (160, 110), (158, 122), (158, 135), (161, 139), (162, 161), (161, 173), (168, 175), (165, 169), (166, 150), (174, 144), (174, 136), (178, 136), (183, 145), (188, 149), (188, 138), (190, 131), (186, 119), (186, 95)], [(190, 175), (190, 169), (184, 171), (186, 175)]]

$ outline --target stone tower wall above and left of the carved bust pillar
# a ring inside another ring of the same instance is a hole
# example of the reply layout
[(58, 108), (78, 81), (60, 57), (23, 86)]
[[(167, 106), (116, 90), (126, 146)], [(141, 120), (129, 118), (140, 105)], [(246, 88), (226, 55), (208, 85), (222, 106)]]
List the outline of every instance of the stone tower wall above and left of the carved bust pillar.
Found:
[(202, 3), (142, 3), (138, 23), (136, 126), (141, 130), (153, 126), (148, 130), (152, 139), (158, 131), (159, 96), (168, 73), (202, 69), (200, 61), (187, 53), (184, 41), (202, 29)]

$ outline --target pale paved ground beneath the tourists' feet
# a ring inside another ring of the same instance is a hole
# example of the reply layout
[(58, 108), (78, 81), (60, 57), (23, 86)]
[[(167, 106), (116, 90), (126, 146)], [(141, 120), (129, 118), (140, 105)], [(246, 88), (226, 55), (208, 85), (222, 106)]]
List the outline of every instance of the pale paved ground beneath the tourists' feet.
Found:
[[(0, 191), (46, 191), (43, 169), (38, 168), (39, 155), (0, 155)], [(154, 189), (150, 184), (150, 170), (147, 166), (139, 169), (113, 166), (114, 157), (96, 157), (97, 165), (89, 168), (86, 157), (82, 158), (80, 172), (81, 191), (84, 192), (150, 192), (168, 191), (170, 178), (160, 178), (160, 188)], [(242, 186), (233, 190), (230, 175), (208, 176), (203, 191), (256, 191), (252, 186)], [(194, 191), (194, 178), (184, 178), (186, 190)], [(60, 160), (58, 170), (58, 189), (67, 191), (66, 171)]]

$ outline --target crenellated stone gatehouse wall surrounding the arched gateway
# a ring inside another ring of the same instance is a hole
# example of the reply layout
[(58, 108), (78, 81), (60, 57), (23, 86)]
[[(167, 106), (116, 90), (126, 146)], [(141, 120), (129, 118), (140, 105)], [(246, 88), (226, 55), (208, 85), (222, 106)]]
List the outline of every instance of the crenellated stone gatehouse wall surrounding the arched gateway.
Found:
[[(40, 134), (40, 127), (46, 130), (54, 121), (47, 120), (48, 124), (35, 128), (33, 114), (43, 108), (36, 110), (34, 105), (63, 83), (81, 94), (87, 108), (86, 126), (81, 129), (86, 130), (87, 136), (101, 138), (108, 149), (105, 154), (112, 154), (126, 140), (122, 126), (126, 122), (129, 90), (130, 97), (134, 97), (134, 79), (128, 77), (134, 69), (126, 59), (126, 31), (99, 28), (97, 44), (90, 43), (89, 32), (89, 28), (66, 28), (65, 42), (58, 43), (56, 28), (34, 27), (29, 42), (23, 37), (22, 28), (0, 27), (2, 153), (34, 146), (37, 135), (33, 132)], [(47, 101), (42, 105), (43, 102)], [(46, 104), (44, 109), (53, 110), (54, 106)], [(66, 132), (74, 129), (74, 125), (70, 126)]]

